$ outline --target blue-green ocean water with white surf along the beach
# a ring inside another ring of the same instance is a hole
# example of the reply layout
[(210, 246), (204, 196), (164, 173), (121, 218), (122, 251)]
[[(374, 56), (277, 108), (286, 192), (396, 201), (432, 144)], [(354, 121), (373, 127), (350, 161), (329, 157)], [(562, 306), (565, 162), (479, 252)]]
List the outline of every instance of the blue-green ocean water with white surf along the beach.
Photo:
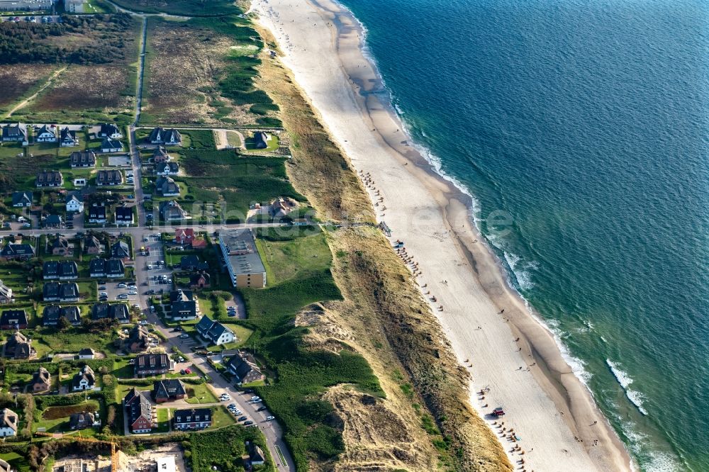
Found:
[(343, 3), (642, 470), (709, 471), (709, 3)]

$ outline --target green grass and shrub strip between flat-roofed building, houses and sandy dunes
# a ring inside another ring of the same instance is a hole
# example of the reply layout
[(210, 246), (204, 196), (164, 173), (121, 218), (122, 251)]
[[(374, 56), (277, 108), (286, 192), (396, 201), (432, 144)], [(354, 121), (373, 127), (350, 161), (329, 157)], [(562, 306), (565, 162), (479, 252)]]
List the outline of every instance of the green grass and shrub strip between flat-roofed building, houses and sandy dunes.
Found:
[(304, 306), (337, 300), (340, 291), (330, 274), (330, 249), (325, 235), (293, 237), (286, 241), (259, 240), (272, 281), (262, 290), (244, 289), (246, 324), (255, 332), (250, 345), (276, 373), (267, 386), (255, 390), (286, 429), (298, 466), (306, 457), (333, 458), (344, 449), (340, 431), (328, 424), (330, 403), (319, 395), (338, 383), (351, 383), (373, 395), (383, 395), (367, 361), (348, 351), (338, 353), (308, 349), (303, 328), (292, 320)]

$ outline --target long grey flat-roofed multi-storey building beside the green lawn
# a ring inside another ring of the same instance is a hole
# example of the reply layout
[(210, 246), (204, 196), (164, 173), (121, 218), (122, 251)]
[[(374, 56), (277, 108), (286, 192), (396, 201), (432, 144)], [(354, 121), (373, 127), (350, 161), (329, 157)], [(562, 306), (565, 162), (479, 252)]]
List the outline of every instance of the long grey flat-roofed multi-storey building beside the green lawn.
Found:
[(235, 287), (265, 287), (266, 269), (250, 229), (219, 233), (219, 247)]

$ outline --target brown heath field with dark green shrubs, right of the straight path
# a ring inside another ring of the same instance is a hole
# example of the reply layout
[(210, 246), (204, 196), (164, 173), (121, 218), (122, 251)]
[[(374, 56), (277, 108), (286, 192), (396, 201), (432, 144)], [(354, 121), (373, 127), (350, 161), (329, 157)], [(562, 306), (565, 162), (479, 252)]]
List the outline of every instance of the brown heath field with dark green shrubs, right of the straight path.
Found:
[(277, 107), (252, 78), (260, 49), (237, 16), (150, 18), (143, 123), (257, 125)]

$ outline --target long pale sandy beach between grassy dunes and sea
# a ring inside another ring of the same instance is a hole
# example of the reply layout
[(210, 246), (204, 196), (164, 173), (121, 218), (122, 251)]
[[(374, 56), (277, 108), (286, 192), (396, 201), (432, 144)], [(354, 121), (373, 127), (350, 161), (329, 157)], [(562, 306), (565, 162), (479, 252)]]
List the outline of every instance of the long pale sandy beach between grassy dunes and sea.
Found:
[[(432, 172), (380, 101), (383, 86), (362, 55), (362, 31), (350, 13), (328, 0), (257, 0), (252, 8), (357, 169), (391, 241), (405, 242), (402, 258), (471, 373), (470, 403), (515, 468), (630, 470), (623, 444), (554, 337), (479, 241), (471, 199)], [(503, 425), (490, 415), (496, 406), (506, 410)], [(510, 429), (520, 441), (507, 439)]]

